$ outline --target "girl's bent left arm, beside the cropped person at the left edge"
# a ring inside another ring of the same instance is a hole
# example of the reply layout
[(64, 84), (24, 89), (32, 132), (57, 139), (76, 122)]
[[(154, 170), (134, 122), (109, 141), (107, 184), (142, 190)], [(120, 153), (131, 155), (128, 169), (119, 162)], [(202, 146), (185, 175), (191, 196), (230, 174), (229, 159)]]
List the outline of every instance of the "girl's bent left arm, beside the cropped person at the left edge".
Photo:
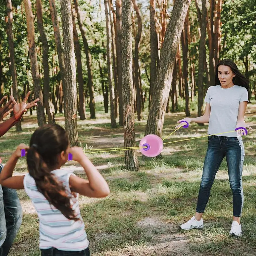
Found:
[(28, 145), (20, 144), (17, 149), (12, 153), (7, 163), (4, 165), (2, 172), (0, 173), (0, 184), (6, 188), (24, 189), (23, 180), (25, 175), (12, 176), (13, 170), (17, 164), (18, 159), (21, 156), (21, 149), (27, 151)]

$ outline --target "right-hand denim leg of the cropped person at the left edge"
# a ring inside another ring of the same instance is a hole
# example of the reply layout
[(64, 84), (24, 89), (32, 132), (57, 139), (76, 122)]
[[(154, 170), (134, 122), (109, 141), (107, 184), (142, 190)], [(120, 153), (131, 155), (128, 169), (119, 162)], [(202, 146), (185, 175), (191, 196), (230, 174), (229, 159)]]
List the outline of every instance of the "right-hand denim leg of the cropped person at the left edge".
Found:
[[(0, 166), (2, 171), (2, 166)], [(6, 221), (6, 238), (1, 246), (0, 256), (8, 255), (12, 243), (18, 234), (22, 222), (22, 208), (15, 189), (2, 187), (4, 201), (4, 215)], [(1, 209), (2, 210), (2, 209)]]

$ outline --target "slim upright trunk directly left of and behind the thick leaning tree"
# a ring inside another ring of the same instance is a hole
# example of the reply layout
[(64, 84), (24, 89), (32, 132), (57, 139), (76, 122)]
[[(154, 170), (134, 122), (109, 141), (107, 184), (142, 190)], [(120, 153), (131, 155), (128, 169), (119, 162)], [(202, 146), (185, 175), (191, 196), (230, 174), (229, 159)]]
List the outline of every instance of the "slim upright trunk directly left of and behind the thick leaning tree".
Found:
[(151, 106), (152, 91), (155, 87), (156, 81), (156, 63), (157, 63), (157, 34), (156, 34), (156, 0), (150, 0), (150, 85), (149, 85), (149, 97), (148, 97), (148, 110)]

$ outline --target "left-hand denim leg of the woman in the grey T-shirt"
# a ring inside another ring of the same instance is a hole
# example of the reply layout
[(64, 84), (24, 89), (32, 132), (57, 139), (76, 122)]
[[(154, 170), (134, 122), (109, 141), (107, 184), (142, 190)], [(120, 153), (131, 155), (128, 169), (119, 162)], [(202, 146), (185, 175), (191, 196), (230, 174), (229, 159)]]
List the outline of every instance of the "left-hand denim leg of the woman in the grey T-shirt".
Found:
[(196, 212), (203, 213), (210, 197), (215, 175), (220, 168), (220, 164), (225, 156), (221, 149), (218, 136), (208, 137), (208, 149), (204, 159), (204, 169), (200, 184)]

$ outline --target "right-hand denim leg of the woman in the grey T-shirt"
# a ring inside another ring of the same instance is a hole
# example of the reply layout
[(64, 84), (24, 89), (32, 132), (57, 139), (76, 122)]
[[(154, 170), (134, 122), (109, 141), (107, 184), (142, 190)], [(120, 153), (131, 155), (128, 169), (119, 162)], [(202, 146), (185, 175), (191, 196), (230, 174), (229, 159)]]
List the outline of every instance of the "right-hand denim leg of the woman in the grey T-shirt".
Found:
[(228, 164), (228, 178), (233, 194), (233, 216), (241, 217), (244, 204), (242, 187), (242, 172), (244, 164), (244, 144), (241, 137), (227, 139), (226, 160)]

